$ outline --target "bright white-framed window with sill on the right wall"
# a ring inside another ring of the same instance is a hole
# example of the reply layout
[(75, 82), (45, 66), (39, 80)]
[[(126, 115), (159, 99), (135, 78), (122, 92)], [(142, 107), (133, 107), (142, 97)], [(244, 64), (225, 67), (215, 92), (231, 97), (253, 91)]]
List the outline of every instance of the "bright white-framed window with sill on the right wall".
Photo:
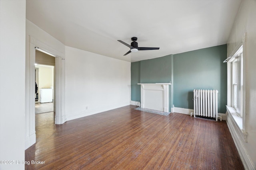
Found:
[[(246, 33), (242, 41), (232, 52), (224, 63), (227, 63), (227, 124), (234, 136), (244, 139), (247, 142), (246, 132)], [(233, 136), (233, 135), (232, 135)]]

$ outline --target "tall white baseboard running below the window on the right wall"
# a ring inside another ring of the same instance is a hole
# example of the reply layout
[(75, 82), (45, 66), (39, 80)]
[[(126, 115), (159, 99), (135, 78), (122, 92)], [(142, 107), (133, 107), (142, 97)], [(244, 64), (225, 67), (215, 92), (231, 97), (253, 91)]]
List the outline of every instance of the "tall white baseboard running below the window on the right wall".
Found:
[(246, 142), (244, 141), (244, 136), (248, 135), (245, 132), (240, 132), (241, 130), (238, 129), (238, 125), (236, 125), (236, 122), (234, 120), (234, 118), (232, 117), (232, 115), (228, 112), (227, 113), (227, 119), (226, 119), (227, 125), (228, 125), (228, 129), (231, 133), (231, 136), (234, 140), (234, 143), (236, 145), (236, 148), (238, 150), (238, 153), (240, 155), (240, 158), (244, 164), (244, 168), (246, 170), (254, 170), (256, 169), (250, 156), (248, 155), (246, 149), (244, 148), (243, 143)]

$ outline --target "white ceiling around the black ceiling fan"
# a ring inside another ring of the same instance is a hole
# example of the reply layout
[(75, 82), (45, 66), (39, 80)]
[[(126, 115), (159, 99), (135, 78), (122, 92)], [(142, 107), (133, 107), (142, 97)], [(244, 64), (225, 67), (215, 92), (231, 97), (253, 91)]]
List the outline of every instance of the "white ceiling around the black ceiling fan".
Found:
[[(135, 62), (227, 43), (241, 0), (27, 0), (26, 18), (64, 45)], [(130, 50), (138, 37), (139, 47)]]

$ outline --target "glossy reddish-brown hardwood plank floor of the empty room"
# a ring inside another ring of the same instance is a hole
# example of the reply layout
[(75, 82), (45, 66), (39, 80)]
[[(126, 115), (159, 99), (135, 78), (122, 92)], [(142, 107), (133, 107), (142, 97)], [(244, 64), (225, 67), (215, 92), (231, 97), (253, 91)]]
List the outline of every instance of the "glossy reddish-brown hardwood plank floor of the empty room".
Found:
[[(168, 116), (125, 106), (54, 125), (36, 115), (36, 144), (25, 169), (243, 170), (226, 121)], [(31, 164), (31, 161), (44, 164)]]

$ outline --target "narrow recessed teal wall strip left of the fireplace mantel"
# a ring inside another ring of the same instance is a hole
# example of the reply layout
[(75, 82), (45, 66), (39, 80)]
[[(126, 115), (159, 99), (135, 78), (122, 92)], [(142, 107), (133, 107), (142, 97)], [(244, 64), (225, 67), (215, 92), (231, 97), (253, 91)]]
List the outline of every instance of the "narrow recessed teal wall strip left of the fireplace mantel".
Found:
[(140, 61), (131, 63), (131, 100), (140, 102)]

